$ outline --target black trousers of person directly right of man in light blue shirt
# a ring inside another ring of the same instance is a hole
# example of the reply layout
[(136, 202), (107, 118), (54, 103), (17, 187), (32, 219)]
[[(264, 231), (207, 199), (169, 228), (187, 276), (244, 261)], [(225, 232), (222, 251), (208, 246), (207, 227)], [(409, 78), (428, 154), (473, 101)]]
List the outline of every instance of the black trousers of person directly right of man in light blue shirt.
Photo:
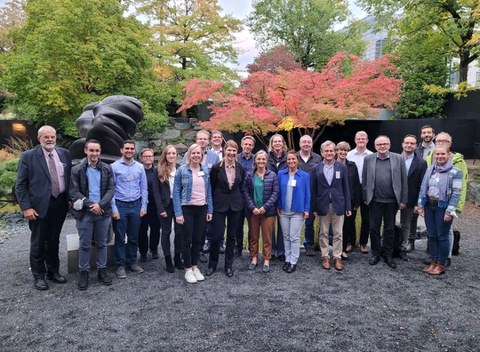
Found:
[[(148, 228), (150, 227), (150, 241)], [(158, 253), (158, 244), (160, 243), (160, 219), (156, 206), (147, 208), (145, 214), (140, 220), (140, 229), (138, 231), (138, 251), (140, 255), (146, 256), (148, 250), (150, 253)]]

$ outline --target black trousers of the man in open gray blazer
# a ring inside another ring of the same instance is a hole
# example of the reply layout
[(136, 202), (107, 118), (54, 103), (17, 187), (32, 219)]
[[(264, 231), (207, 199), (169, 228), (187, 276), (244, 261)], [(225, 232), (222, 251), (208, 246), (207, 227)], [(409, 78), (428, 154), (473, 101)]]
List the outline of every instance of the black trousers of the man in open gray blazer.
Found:
[[(380, 203), (371, 201), (368, 205), (370, 215), (370, 241), (372, 255), (392, 257), (394, 243), (395, 215), (398, 211), (397, 203)], [(383, 248), (380, 236), (380, 227), (383, 220)]]

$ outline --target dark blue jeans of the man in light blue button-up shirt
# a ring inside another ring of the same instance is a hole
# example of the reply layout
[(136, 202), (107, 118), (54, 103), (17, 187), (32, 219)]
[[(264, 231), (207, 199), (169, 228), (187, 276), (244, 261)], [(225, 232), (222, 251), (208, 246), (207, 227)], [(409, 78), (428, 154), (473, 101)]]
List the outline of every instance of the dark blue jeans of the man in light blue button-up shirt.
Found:
[[(116, 200), (120, 219), (113, 220), (115, 233), (115, 264), (132, 266), (137, 261), (138, 230), (140, 229), (141, 198), (133, 202)], [(125, 244), (125, 238), (127, 243)]]

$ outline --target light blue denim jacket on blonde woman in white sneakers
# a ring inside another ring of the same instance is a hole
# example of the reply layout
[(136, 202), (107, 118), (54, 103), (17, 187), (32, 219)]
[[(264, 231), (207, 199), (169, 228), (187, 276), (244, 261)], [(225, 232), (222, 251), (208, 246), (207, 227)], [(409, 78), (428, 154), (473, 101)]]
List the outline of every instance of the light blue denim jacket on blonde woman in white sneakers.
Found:
[[(203, 180), (205, 181), (205, 189), (207, 191), (207, 212), (213, 213), (212, 188), (210, 186), (210, 176), (208, 168), (200, 164), (203, 171)], [(192, 170), (190, 166), (184, 164), (177, 169), (175, 180), (173, 182), (173, 211), (175, 216), (183, 216), (182, 205), (187, 205), (192, 196)]]

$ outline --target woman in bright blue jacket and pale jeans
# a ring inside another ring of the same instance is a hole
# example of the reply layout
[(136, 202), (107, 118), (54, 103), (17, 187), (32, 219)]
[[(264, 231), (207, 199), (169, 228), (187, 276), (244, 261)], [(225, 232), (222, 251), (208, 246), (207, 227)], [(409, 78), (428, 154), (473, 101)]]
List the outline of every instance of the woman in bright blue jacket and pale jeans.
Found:
[(278, 218), (283, 232), (283, 270), (293, 273), (300, 256), (300, 232), (310, 214), (310, 177), (298, 168), (294, 150), (287, 152), (287, 168), (278, 171)]

